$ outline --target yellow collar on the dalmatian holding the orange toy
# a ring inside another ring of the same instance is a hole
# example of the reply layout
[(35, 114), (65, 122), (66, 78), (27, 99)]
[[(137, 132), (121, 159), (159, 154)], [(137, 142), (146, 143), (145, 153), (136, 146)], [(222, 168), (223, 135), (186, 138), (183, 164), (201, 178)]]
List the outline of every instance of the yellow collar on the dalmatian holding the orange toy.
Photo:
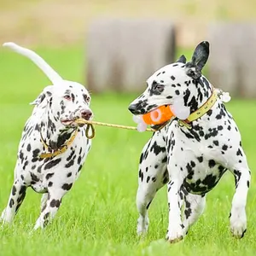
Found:
[(218, 93), (215, 89), (212, 90), (212, 96), (210, 96), (200, 108), (195, 110), (195, 112), (190, 113), (189, 117), (185, 120), (178, 120), (178, 124), (181, 126), (186, 126), (188, 129), (191, 129), (191, 125), (189, 123), (195, 121), (196, 119), (200, 119), (209, 109), (212, 108), (214, 103), (217, 101)]

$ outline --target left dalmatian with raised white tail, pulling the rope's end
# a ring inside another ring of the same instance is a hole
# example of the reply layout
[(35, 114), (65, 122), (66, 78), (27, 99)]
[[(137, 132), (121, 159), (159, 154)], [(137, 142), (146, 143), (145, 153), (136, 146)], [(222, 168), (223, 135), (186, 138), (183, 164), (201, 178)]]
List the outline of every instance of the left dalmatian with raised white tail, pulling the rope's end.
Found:
[(61, 79), (36, 53), (14, 43), (3, 46), (30, 58), (53, 85), (44, 88), (21, 135), (14, 183), (0, 220), (11, 223), (26, 196), (26, 189), (42, 193), (41, 213), (34, 229), (44, 228), (55, 217), (84, 164), (91, 141), (86, 125), (76, 119), (92, 119), (90, 94), (82, 84)]

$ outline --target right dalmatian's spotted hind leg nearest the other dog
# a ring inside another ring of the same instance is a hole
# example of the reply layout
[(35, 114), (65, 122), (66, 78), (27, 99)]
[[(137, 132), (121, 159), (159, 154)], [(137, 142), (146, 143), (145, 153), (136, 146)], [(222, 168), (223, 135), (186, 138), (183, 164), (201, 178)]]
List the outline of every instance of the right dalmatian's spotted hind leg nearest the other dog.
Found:
[(148, 207), (154, 199), (156, 192), (168, 182), (166, 169), (166, 148), (161, 131), (144, 146), (140, 158), (138, 189), (137, 189), (137, 234), (142, 235), (148, 231)]

